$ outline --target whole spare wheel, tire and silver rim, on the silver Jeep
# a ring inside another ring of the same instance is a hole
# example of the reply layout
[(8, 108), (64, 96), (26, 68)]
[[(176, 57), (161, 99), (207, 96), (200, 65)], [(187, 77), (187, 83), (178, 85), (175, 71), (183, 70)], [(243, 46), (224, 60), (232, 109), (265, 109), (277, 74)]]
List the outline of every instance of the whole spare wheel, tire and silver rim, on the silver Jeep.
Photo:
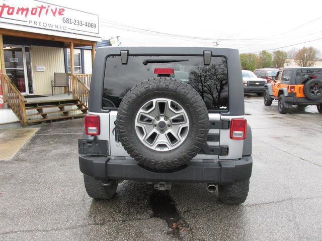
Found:
[(209, 130), (207, 107), (191, 85), (170, 77), (148, 79), (120, 103), (116, 131), (139, 164), (159, 170), (187, 164), (201, 150)]

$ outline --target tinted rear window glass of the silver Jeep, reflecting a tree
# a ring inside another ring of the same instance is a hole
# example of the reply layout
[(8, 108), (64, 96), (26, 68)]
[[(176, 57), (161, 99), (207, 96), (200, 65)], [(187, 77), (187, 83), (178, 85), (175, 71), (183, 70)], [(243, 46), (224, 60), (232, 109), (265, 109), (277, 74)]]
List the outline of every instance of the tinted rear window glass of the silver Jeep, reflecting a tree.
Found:
[[(146, 60), (153, 60), (154, 63), (143, 64)], [(163, 60), (176, 61), (156, 63)], [(155, 69), (165, 68), (173, 69), (172, 74), (154, 74)], [(121, 63), (120, 56), (108, 56), (103, 108), (119, 107), (129, 89), (145, 79), (157, 76), (170, 76), (189, 83), (200, 94), (208, 110), (228, 110), (228, 73), (224, 57), (211, 57), (210, 65), (205, 66), (203, 56), (170, 55), (129, 55), (127, 64)]]

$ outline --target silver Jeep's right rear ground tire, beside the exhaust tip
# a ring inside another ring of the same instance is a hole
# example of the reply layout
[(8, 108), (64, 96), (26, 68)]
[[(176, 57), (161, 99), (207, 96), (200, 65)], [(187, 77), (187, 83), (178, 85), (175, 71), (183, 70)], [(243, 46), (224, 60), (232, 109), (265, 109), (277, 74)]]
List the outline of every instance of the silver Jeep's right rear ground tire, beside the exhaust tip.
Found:
[(218, 185), (219, 199), (224, 204), (241, 204), (246, 201), (250, 180), (234, 182), (232, 185)]

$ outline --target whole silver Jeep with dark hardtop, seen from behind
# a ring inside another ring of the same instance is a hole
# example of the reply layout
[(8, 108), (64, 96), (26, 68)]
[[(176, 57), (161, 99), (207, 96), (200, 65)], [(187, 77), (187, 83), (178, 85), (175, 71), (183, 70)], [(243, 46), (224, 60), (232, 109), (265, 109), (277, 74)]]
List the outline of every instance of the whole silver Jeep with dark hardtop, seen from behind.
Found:
[(253, 163), (244, 115), (238, 50), (99, 48), (78, 140), (86, 191), (109, 199), (121, 180), (158, 190), (200, 182), (223, 203), (243, 203)]

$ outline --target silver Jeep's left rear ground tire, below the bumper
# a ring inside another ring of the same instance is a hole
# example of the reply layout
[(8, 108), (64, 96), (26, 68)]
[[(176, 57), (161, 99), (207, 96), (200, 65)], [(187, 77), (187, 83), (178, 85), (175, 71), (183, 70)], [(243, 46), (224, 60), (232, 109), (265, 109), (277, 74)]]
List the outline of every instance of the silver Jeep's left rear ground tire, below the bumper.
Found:
[(118, 181), (113, 180), (109, 183), (104, 183), (94, 177), (84, 174), (84, 184), (87, 194), (95, 199), (111, 199), (118, 186)]

